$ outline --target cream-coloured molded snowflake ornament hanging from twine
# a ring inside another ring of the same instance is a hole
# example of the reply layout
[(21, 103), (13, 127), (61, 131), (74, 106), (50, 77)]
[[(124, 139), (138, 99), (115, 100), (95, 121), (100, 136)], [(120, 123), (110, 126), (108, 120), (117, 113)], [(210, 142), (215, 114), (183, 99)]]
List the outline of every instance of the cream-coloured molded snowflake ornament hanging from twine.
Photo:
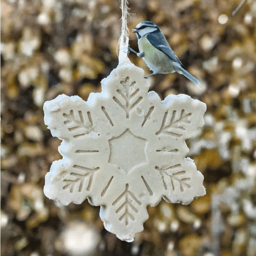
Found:
[(105, 228), (126, 241), (143, 230), (148, 205), (189, 204), (206, 193), (203, 175), (185, 158), (185, 139), (204, 125), (206, 105), (184, 94), (161, 102), (149, 86), (126, 58), (87, 102), (63, 94), (44, 104), (45, 124), (63, 140), (45, 195), (63, 205), (88, 198), (101, 206)]

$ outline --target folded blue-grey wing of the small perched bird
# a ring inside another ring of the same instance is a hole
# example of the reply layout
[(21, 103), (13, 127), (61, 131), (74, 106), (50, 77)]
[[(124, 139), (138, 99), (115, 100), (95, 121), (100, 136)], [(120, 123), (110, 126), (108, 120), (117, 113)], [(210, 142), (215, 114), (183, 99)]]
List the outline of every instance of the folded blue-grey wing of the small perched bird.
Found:
[(176, 54), (170, 48), (165, 36), (161, 32), (154, 33), (154, 34), (149, 33), (146, 35), (146, 38), (148, 39), (151, 45), (153, 45), (155, 48), (157, 48), (161, 52), (165, 53), (174, 62), (179, 63), (181, 64), (181, 66), (183, 66), (180, 60), (178, 59), (178, 57), (176, 56)]

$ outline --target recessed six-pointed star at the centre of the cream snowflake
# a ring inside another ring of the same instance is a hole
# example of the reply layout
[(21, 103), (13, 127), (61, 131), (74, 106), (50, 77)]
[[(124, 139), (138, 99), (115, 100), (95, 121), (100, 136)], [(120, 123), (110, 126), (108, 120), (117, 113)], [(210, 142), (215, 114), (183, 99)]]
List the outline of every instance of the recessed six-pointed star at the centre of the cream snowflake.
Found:
[(146, 163), (146, 139), (135, 136), (126, 129), (120, 136), (109, 140), (109, 163), (128, 173), (141, 163)]

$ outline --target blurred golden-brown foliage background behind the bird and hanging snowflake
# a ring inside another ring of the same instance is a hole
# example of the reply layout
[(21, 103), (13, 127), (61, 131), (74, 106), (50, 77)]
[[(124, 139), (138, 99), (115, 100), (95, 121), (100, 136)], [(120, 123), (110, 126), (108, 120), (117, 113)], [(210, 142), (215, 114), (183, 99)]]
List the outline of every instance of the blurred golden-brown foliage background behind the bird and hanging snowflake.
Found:
[[(255, 256), (256, 1), (130, 0), (128, 26), (155, 22), (189, 72), (156, 75), (162, 99), (185, 93), (207, 104), (188, 140), (207, 194), (188, 206), (148, 207), (132, 243), (107, 232), (87, 200), (63, 207), (44, 196), (60, 140), (42, 106), (59, 94), (87, 100), (118, 64), (117, 0), (1, 0), (1, 255)], [(131, 48), (138, 50), (130, 32)], [(150, 71), (135, 54), (129, 59)]]

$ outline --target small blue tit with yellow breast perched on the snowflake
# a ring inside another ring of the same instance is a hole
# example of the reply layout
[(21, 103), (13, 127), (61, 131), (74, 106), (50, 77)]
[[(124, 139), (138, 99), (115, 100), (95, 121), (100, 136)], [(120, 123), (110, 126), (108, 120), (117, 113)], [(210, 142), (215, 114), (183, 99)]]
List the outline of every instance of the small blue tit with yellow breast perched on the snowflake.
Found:
[(145, 77), (146, 79), (157, 74), (178, 72), (200, 88), (200, 82), (185, 69), (155, 23), (151, 21), (140, 22), (132, 29), (132, 32), (136, 33), (140, 52), (136, 52), (130, 47), (128, 50), (142, 58), (153, 71), (153, 73)]

